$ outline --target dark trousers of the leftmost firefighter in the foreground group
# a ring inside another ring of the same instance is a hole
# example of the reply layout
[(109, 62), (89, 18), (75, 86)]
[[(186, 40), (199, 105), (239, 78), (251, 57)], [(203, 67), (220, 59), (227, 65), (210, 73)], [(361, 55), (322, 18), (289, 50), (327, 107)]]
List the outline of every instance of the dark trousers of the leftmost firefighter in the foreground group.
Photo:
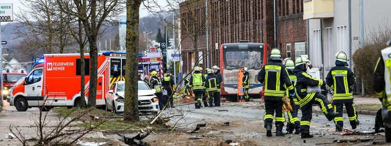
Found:
[(263, 121), (264, 127), (267, 125), (272, 126), (274, 119), (274, 112), (276, 112), (276, 127), (283, 126), (285, 122), (285, 116), (282, 111), (282, 101), (265, 100), (265, 115)]

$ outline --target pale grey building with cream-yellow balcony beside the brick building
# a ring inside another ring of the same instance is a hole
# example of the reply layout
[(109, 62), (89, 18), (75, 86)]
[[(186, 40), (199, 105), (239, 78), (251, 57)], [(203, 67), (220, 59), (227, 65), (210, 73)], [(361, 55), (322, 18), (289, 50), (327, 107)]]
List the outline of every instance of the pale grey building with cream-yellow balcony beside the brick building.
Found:
[[(344, 51), (352, 58), (369, 33), (390, 24), (389, 7), (388, 0), (304, 0), (313, 66), (325, 77), (335, 66), (337, 52)], [(351, 67), (352, 62), (348, 63)]]

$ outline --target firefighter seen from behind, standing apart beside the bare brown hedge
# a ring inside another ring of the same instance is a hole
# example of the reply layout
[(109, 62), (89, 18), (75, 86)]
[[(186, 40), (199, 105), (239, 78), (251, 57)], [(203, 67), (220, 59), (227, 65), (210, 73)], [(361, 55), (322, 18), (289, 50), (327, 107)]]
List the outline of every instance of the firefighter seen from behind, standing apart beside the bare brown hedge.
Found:
[(335, 130), (342, 131), (342, 128), (344, 128), (344, 118), (342, 117), (344, 105), (348, 113), (350, 126), (352, 129), (355, 129), (359, 125), (359, 121), (357, 120), (357, 112), (353, 106), (351, 86), (354, 85), (356, 79), (354, 73), (347, 67), (349, 58), (346, 53), (338, 52), (335, 56), (336, 66), (331, 68), (326, 77), (327, 85), (334, 91), (334, 110), (339, 113), (334, 118)]

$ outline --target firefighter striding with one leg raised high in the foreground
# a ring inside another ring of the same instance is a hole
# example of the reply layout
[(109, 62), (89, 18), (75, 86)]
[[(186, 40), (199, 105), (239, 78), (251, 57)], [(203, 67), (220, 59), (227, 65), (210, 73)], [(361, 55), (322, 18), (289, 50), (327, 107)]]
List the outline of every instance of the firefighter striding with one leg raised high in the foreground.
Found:
[(296, 58), (296, 65), (293, 73), (296, 73), (297, 82), (295, 85), (297, 104), (302, 110), (302, 120), (300, 121), (300, 134), (301, 138), (312, 138), (313, 135), (309, 134), (310, 122), (312, 119), (312, 105), (319, 105), (322, 112), (325, 114), (328, 121), (333, 120), (339, 113), (334, 112), (331, 104), (327, 98), (318, 92), (307, 93), (307, 86), (321, 86), (326, 85), (321, 79), (313, 78), (306, 73), (307, 63), (309, 61), (304, 57)]

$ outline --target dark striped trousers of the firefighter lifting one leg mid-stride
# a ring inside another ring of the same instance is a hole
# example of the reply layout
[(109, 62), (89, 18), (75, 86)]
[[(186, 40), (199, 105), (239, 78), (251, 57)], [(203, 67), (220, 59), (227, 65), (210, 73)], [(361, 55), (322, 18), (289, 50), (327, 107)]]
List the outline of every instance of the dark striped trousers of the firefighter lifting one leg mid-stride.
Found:
[(312, 119), (312, 105), (317, 104), (321, 108), (321, 111), (325, 114), (326, 118), (330, 121), (332, 120), (332, 115), (334, 111), (332, 109), (331, 104), (328, 102), (327, 98), (320, 94), (316, 93), (314, 97), (303, 107), (300, 108), (302, 110), (302, 120), (300, 121), (300, 133), (301, 134), (309, 134), (310, 122)]

